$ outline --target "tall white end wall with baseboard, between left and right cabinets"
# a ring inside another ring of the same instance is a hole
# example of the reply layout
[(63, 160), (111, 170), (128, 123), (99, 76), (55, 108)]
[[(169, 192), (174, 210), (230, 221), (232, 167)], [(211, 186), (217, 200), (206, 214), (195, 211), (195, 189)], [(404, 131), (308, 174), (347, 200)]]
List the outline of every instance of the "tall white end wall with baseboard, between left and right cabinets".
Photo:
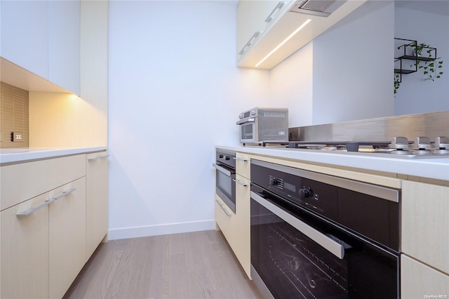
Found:
[(109, 2), (111, 239), (214, 228), (214, 146), (269, 105), (269, 72), (235, 53), (235, 3)]

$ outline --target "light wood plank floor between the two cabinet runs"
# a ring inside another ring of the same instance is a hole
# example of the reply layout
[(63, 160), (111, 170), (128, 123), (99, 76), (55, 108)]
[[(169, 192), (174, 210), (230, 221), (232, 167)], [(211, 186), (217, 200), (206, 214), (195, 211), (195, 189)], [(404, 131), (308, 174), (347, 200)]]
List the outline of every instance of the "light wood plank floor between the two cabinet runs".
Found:
[(220, 231), (100, 244), (64, 299), (262, 298)]

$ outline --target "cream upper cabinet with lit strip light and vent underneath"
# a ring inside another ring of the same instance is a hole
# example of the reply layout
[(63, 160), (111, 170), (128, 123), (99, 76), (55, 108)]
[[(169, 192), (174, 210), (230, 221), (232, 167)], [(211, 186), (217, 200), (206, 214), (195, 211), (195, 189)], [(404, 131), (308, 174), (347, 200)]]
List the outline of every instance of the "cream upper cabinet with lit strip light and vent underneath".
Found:
[[(330, 5), (329, 8), (337, 8), (330, 9), (330, 14), (303, 9), (307, 6), (326, 11), (328, 7), (321, 5), (325, 2)], [(237, 7), (237, 66), (272, 69), (365, 2), (241, 0)], [(304, 6), (297, 9), (297, 4)], [(302, 29), (297, 32), (300, 27)], [(293, 32), (297, 33), (293, 35)], [(290, 39), (286, 41), (288, 37)]]

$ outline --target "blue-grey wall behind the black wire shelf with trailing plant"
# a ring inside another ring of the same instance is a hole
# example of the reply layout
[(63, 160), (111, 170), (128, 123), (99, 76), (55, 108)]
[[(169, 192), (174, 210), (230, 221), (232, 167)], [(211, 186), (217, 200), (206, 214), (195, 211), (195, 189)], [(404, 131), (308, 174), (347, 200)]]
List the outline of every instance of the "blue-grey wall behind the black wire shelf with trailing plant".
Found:
[(423, 81), (425, 77), (421, 71), (403, 74), (394, 100), (396, 115), (449, 110), (449, 3), (429, 3), (432, 6), (446, 4), (443, 8), (445, 15), (396, 7), (395, 37), (412, 39), (418, 44), (425, 43), (436, 48), (436, 55), (443, 60), (444, 74), (435, 81)]

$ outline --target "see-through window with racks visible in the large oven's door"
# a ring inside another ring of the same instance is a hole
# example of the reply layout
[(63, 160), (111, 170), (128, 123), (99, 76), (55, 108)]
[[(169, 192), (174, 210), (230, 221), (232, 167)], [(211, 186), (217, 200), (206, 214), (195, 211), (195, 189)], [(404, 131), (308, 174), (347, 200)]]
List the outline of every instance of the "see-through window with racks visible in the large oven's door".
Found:
[(347, 261), (255, 201), (251, 264), (274, 298), (348, 298)]

